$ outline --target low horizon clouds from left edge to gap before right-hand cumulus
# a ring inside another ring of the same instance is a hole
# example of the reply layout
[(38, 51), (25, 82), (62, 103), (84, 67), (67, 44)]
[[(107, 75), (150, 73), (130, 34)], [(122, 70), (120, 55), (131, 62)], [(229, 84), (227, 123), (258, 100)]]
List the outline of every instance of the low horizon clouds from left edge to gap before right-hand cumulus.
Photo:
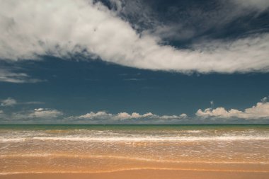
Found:
[(69, 116), (55, 109), (36, 108), (5, 114), (0, 110), (0, 123), (23, 124), (176, 124), (188, 122), (188, 115), (155, 115), (151, 112), (119, 112), (112, 114), (105, 111), (89, 112), (85, 115)]

